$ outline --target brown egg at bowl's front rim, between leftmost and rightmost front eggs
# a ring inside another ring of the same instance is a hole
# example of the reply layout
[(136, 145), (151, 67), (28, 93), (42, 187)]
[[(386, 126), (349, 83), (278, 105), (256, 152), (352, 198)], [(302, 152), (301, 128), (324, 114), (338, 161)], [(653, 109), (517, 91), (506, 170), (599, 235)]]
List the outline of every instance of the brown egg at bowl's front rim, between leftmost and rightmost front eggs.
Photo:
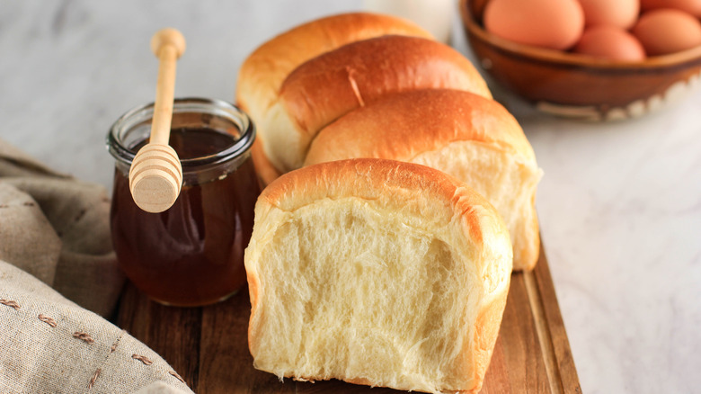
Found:
[(633, 34), (607, 25), (585, 29), (574, 52), (609, 60), (640, 61), (645, 58), (643, 45)]

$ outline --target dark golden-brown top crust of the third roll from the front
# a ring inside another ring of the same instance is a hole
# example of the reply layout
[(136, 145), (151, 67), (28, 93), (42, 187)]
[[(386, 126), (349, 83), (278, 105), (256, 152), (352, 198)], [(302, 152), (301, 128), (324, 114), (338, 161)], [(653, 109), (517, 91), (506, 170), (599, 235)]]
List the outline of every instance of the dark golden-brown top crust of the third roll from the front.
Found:
[(280, 100), (299, 131), (315, 135), (345, 113), (396, 92), (453, 88), (491, 98), (475, 67), (438, 41), (383, 36), (324, 53), (297, 67)]

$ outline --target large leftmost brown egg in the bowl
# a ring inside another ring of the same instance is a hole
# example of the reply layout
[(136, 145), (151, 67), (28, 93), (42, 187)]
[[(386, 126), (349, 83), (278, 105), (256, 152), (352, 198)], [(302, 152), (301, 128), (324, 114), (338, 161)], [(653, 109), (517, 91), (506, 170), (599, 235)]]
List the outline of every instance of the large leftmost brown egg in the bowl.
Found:
[(581, 37), (584, 13), (577, 0), (492, 0), (484, 27), (521, 44), (568, 49)]

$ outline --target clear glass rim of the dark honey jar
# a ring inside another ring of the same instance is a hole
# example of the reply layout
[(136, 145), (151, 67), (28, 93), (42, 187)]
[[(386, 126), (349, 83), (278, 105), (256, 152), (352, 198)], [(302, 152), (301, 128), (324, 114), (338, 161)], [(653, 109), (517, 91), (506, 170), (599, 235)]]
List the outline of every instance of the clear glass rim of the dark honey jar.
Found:
[[(111, 156), (116, 160), (128, 166), (131, 165), (131, 162), (134, 160), (137, 152), (129, 147), (126, 147), (122, 143), (120, 139), (120, 131), (128, 128), (130, 125), (137, 124), (133, 123), (133, 121), (139, 119), (147, 121), (152, 119), (154, 104), (155, 103), (146, 103), (144, 105), (134, 107), (121, 115), (117, 121), (112, 123), (110, 131), (107, 133), (106, 142)], [(251, 121), (243, 110), (233, 103), (228, 103), (219, 99), (182, 97), (176, 98), (173, 102), (173, 113), (177, 112), (211, 112), (212, 115), (232, 121), (241, 131), (238, 138), (229, 134), (234, 143), (217, 153), (201, 157), (191, 157), (185, 159), (181, 158), (183, 171), (186, 171), (187, 168), (217, 165), (228, 162), (248, 152), (253, 146), (253, 140), (255, 139), (255, 127), (253, 125), (253, 121)], [(132, 121), (132, 123), (129, 123), (129, 121)], [(225, 133), (226, 132), (222, 132), (222, 134)]]

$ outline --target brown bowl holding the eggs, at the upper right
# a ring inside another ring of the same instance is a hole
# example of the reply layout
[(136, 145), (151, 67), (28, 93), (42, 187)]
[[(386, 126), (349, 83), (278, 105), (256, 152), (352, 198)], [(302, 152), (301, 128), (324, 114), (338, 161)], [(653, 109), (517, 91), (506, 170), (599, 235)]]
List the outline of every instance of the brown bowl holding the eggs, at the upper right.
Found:
[(484, 30), (487, 0), (460, 0), (467, 39), (484, 70), (539, 110), (590, 120), (643, 115), (701, 81), (701, 47), (639, 62), (590, 58), (501, 39)]

